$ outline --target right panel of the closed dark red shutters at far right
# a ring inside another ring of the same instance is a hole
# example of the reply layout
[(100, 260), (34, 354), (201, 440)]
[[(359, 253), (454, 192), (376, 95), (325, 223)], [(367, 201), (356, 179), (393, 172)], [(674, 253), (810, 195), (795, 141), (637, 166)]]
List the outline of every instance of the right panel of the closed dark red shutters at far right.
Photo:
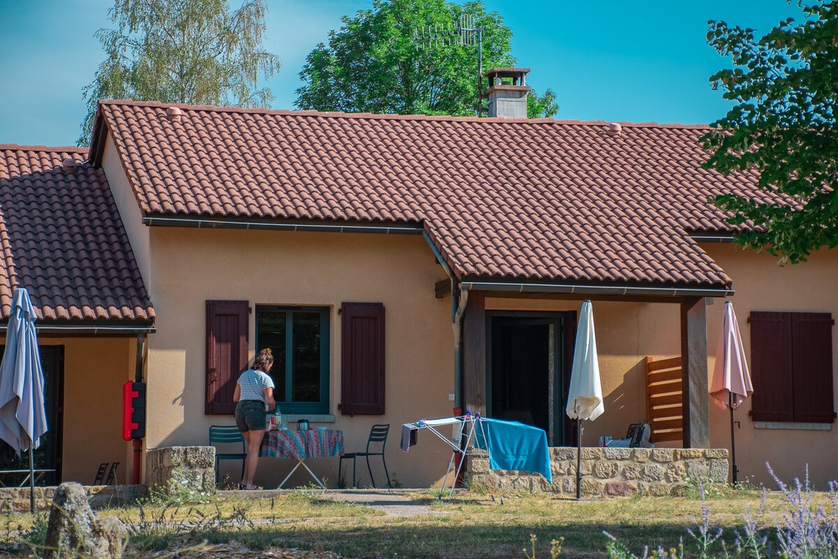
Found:
[(834, 422), (832, 315), (830, 313), (794, 313), (792, 332), (794, 339), (794, 421)]

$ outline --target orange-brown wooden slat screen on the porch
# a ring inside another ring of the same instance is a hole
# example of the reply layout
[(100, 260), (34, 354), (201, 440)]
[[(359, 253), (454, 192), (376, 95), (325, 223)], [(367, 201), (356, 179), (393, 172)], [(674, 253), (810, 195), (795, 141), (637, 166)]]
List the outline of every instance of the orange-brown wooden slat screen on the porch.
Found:
[(684, 438), (681, 394), (681, 359), (646, 357), (646, 421), (652, 426), (652, 443)]

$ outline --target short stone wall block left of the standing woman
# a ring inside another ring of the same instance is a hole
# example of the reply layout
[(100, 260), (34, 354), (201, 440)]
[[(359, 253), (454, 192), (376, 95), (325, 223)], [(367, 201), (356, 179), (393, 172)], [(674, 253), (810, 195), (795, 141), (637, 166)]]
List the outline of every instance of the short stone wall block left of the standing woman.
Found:
[(152, 448), (146, 453), (149, 488), (168, 489), (169, 482), (215, 492), (215, 447)]

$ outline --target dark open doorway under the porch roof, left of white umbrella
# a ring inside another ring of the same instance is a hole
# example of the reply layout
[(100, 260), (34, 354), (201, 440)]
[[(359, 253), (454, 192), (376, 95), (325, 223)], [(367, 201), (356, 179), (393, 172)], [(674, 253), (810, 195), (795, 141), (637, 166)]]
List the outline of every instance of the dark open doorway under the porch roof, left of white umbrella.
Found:
[(551, 446), (566, 444), (568, 313), (487, 314), (489, 416), (544, 429)]

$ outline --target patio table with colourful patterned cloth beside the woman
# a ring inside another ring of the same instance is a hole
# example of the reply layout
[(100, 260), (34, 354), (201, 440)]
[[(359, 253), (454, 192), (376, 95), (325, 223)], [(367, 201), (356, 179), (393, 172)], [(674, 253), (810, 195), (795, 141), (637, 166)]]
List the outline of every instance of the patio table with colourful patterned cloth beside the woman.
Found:
[(331, 458), (344, 455), (344, 432), (338, 429), (308, 429), (305, 431), (292, 431), (290, 429), (277, 429), (268, 431), (262, 438), (259, 456), (267, 458), (295, 458), (297, 465), (285, 476), (277, 489), (282, 489), (288, 478), (303, 466), (308, 470), (315, 482), (323, 488), (323, 485), (316, 475), (308, 468), (305, 461), (308, 458)]

